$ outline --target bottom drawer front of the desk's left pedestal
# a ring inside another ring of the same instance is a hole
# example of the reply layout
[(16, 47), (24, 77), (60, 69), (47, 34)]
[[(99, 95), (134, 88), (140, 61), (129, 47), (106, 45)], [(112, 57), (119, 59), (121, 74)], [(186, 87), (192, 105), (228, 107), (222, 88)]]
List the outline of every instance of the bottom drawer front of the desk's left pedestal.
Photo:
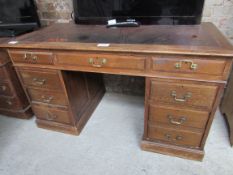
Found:
[(37, 105), (33, 105), (32, 109), (38, 119), (53, 121), (63, 124), (71, 123), (71, 118), (68, 111), (41, 107)]

